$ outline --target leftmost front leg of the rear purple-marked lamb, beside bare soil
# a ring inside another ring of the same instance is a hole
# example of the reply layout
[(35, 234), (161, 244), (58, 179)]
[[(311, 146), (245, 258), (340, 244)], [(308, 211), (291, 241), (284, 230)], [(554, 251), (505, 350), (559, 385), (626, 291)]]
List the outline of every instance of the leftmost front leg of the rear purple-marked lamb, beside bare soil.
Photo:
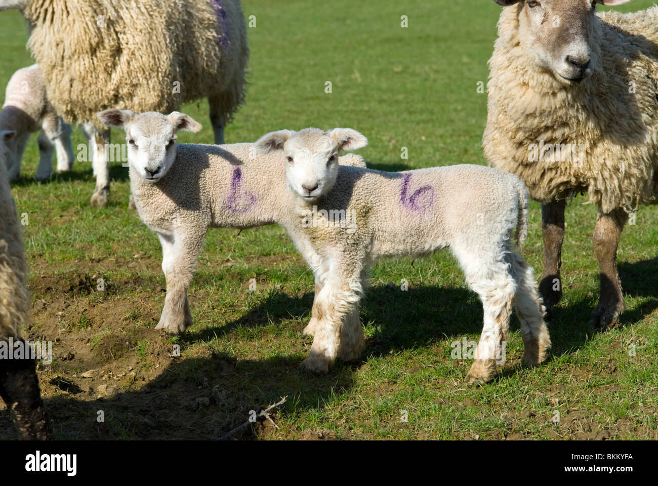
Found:
[(169, 236), (158, 233), (163, 247), (163, 272), (166, 279), (166, 297), (163, 313), (155, 329), (172, 334), (185, 331), (192, 325), (188, 288), (192, 281), (194, 265), (205, 239), (203, 235), (188, 234)]

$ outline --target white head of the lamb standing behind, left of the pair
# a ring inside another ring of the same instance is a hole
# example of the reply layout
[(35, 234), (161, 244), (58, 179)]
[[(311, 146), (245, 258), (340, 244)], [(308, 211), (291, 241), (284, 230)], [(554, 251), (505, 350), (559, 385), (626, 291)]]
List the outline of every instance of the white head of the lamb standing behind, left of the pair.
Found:
[(198, 132), (201, 125), (184, 113), (163, 115), (147, 111), (136, 115), (129, 110), (109, 109), (97, 117), (106, 125), (126, 130), (128, 163), (149, 182), (161, 179), (176, 160), (176, 132)]

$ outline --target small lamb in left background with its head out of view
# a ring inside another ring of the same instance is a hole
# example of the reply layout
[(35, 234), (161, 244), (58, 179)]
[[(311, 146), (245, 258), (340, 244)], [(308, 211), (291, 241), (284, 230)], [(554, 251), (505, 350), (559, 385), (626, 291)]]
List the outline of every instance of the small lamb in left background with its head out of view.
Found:
[(36, 178), (44, 180), (53, 171), (53, 149), (57, 150), (57, 172), (70, 171), (73, 161), (71, 126), (57, 115), (46, 96), (45, 80), (38, 65), (14, 72), (7, 84), (5, 105), (0, 112), (0, 131), (15, 131), (7, 141), (9, 180), (20, 176), (20, 162), (30, 134), (39, 133), (39, 167)]

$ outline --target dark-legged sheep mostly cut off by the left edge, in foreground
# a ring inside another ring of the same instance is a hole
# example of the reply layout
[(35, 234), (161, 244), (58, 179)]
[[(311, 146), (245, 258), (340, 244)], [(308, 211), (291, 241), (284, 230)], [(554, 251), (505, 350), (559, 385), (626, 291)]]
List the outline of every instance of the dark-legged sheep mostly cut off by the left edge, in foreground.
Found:
[[(27, 265), (20, 239), (20, 225), (7, 178), (6, 142), (16, 132), (0, 132), (0, 342), (9, 349), (20, 340), (20, 327), (28, 320), (30, 295), (26, 287)], [(13, 348), (12, 348), (13, 350)], [(3, 359), (0, 355), (0, 397), (7, 404), (19, 439), (50, 439), (49, 421), (43, 408), (34, 359)]]

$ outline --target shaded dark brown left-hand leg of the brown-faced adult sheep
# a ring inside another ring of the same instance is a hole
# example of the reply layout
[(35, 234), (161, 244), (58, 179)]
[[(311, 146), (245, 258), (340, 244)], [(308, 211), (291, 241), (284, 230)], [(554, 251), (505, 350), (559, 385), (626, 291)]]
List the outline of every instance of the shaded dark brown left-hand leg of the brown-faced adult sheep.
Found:
[(540, 294), (546, 306), (546, 320), (553, 317), (553, 306), (562, 298), (562, 242), (565, 238), (565, 200), (542, 204), (542, 234), (544, 237), (544, 269)]

